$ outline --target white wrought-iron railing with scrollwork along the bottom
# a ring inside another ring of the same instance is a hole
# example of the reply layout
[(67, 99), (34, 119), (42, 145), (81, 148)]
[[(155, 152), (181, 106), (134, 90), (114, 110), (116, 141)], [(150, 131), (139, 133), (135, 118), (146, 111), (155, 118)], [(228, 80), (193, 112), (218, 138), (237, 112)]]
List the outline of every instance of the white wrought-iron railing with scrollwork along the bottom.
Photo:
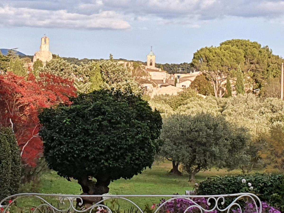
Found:
[[(105, 197), (107, 196), (107, 197)], [(141, 212), (144, 213), (141, 207), (139, 207), (135, 202), (131, 201), (131, 198), (134, 197), (159, 197), (164, 198), (164, 202), (157, 206), (153, 213), (172, 213), (169, 211), (162, 211), (163, 207), (165, 205), (169, 204), (169, 202), (173, 202), (176, 199), (184, 199), (186, 201), (190, 201), (188, 203), (189, 206), (184, 210), (184, 213), (189, 212), (191, 208), (195, 208), (198, 212), (227, 212), (229, 213), (233, 209), (239, 208), (239, 212), (242, 212), (244, 209), (244, 201), (250, 201), (254, 205), (254, 212), (261, 213), (262, 212), (262, 206), (260, 199), (252, 194), (252, 193), (237, 193), (237, 194), (227, 194), (227, 195), (61, 195), (61, 194), (39, 194), (39, 193), (21, 193), (16, 195), (11, 195), (9, 197), (6, 197), (2, 201), (0, 201), (0, 208), (2, 210), (1, 213), (8, 213), (10, 212), (10, 209), (12, 208), (13, 204), (17, 203), (17, 200), (24, 197), (30, 197), (30, 198), (36, 198), (41, 203), (37, 206), (34, 206), (33, 208), (30, 208), (30, 212), (36, 213), (36, 212), (43, 212), (41, 208), (45, 208), (48, 211), (45, 212), (100, 212), (99, 209), (104, 208), (104, 213), (112, 213), (113, 211), (110, 209), (110, 207), (106, 206), (105, 201), (111, 200), (111, 199), (118, 199), (118, 200), (124, 200), (129, 202), (134, 208), (134, 212)], [(63, 205), (63, 208), (59, 208), (59, 206), (55, 206), (54, 204), (51, 204), (50, 201), (47, 201), (46, 197), (56, 199), (59, 204)], [(206, 205), (208, 208), (203, 208), (200, 204), (196, 202), (197, 198), (204, 197), (207, 201)], [(91, 199), (99, 199), (100, 201), (97, 201), (94, 204), (89, 204), (85, 209), (78, 208), (78, 206), (82, 206), (84, 201), (91, 200)], [(229, 200), (229, 204), (226, 204)], [(226, 202), (227, 201), (227, 202)], [(136, 210), (137, 209), (137, 210)]]

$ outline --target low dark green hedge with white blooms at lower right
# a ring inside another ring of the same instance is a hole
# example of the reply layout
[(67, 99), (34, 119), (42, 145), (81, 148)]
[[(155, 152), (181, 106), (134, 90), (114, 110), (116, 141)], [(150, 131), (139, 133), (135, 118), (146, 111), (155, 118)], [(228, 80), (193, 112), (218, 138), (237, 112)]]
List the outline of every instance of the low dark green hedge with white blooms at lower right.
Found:
[[(242, 183), (246, 179), (246, 183)], [(248, 183), (252, 184), (251, 190)], [(199, 195), (224, 195), (250, 192), (258, 195), (261, 201), (284, 210), (284, 175), (252, 174), (239, 176), (212, 176), (202, 181), (198, 188)]]

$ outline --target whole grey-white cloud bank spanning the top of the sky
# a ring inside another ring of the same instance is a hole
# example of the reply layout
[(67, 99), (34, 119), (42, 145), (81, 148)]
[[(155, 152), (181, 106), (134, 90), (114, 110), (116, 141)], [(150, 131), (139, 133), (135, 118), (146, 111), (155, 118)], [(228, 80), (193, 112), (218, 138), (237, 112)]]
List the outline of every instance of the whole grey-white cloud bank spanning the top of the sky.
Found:
[(1, 0), (0, 11), (0, 23), (12, 26), (127, 29), (128, 22), (152, 21), (199, 27), (228, 16), (282, 18), (284, 0)]

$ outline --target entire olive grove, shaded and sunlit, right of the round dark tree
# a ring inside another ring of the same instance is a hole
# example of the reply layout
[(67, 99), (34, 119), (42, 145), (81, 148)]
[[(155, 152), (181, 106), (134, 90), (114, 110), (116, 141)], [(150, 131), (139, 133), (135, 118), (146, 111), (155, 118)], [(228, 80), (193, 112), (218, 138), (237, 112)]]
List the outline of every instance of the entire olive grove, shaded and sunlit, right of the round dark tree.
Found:
[(187, 89), (149, 100), (163, 117), (160, 156), (194, 181), (215, 168), (284, 171), (284, 101), (252, 94), (205, 99)]

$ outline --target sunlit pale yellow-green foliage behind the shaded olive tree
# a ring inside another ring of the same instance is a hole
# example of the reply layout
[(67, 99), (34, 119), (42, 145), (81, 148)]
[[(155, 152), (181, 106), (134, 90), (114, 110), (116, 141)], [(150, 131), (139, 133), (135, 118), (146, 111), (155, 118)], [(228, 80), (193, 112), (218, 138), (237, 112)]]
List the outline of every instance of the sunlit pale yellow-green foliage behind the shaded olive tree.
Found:
[(248, 130), (251, 139), (247, 143), (246, 153), (250, 155), (250, 159), (243, 162), (241, 166), (246, 172), (260, 163), (264, 163), (264, 166), (268, 165), (268, 162), (262, 159), (264, 153), (267, 154), (266, 147), (270, 143), (267, 138), (272, 137), (272, 128), (275, 125), (284, 126), (284, 101), (276, 98), (263, 100), (252, 94), (223, 99), (209, 96), (203, 99), (189, 91), (184, 91), (178, 96), (155, 97), (149, 101), (149, 104), (152, 108), (160, 110), (163, 118), (173, 114), (221, 115), (236, 128)]

